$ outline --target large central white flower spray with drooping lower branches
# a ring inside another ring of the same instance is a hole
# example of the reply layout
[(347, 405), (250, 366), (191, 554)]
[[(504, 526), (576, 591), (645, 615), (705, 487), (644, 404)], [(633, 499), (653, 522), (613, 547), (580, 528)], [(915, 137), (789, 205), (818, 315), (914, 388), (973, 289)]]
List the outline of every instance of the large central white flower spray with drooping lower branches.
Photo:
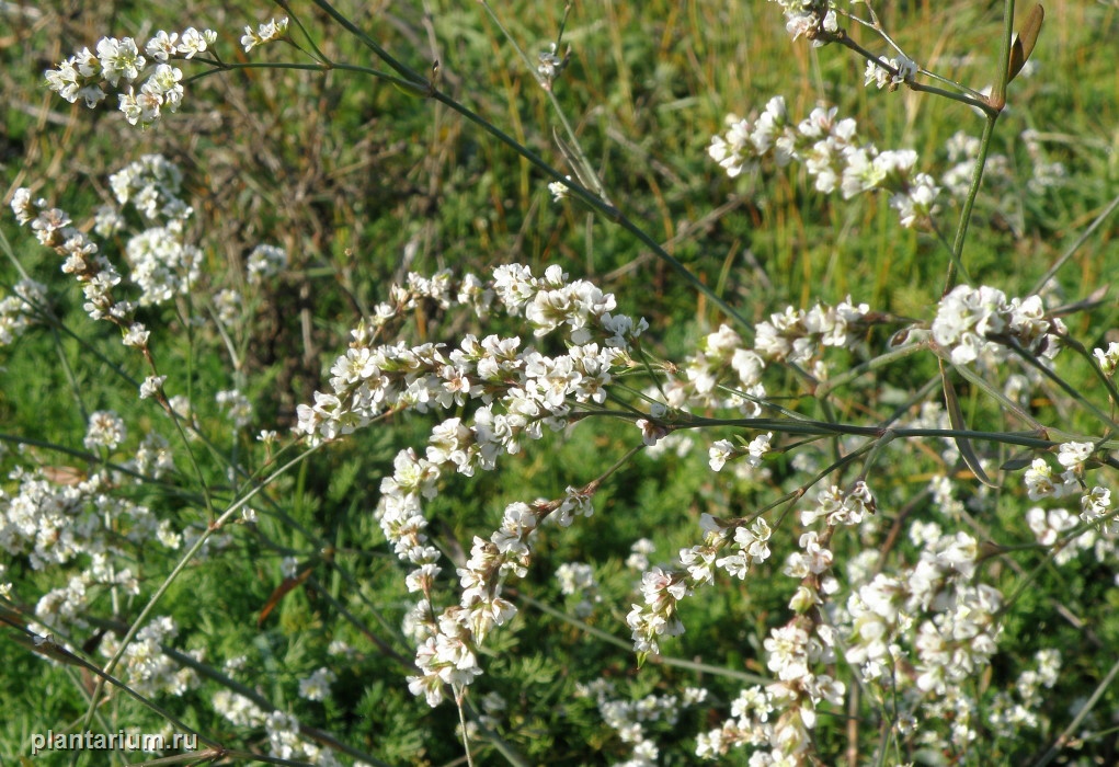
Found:
[[(542, 278), (525, 266), (500, 266), (489, 286), (469, 275), (457, 282), (445, 272), (432, 278), (410, 275), (389, 296), (392, 303), (378, 306), (354, 331), (349, 350), (336, 360), (331, 391), (316, 392), (313, 405), (299, 407), (297, 430), (318, 442), (351, 433), (391, 410), (474, 406), (471, 417), (449, 418), (432, 429), (424, 457), (412, 449), (397, 454), (377, 508), (386, 538), (413, 568), (410, 590), (422, 595), (406, 626), (420, 645), (421, 674), (410, 679), (410, 688), (435, 706), (444, 684), (458, 694), (481, 673), (474, 650), (515, 614), (500, 596), (501, 583), (525, 575), (540, 522), (552, 517), (571, 524), (574, 515), (590, 515), (593, 489), (570, 487), (557, 501), (508, 505), (498, 530), (488, 540), (474, 539), (470, 560), (458, 571), (460, 602), (439, 616), (431, 591), (441, 555), (424, 532), (423, 500), (438, 493), (444, 474), (491, 470), (500, 455), (519, 452), (521, 441), (542, 438), (545, 427), (562, 429), (581, 410), (603, 403), (604, 387), (630, 364), (629, 349), (647, 323), (615, 314), (612, 295), (585, 281), (571, 282), (554, 266)], [(565, 354), (547, 357), (521, 348), (519, 338), (496, 335), (480, 341), (467, 335), (450, 350), (442, 343), (375, 343), (379, 329), (423, 301), (442, 307), (457, 303), (479, 314), (496, 304), (523, 315), (536, 337), (563, 331), (570, 345)]]

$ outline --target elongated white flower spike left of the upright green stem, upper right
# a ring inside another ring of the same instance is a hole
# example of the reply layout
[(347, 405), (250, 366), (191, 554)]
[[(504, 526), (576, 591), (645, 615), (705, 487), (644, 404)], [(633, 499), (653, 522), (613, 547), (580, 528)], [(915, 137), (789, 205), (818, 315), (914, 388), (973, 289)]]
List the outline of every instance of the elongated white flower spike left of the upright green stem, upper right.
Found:
[(844, 199), (871, 191), (890, 195), (890, 207), (902, 226), (924, 225), (937, 211), (940, 187), (928, 173), (914, 170), (912, 150), (883, 150), (857, 140), (854, 120), (836, 120), (836, 107), (815, 108), (793, 124), (784, 98), (774, 96), (756, 120), (726, 119), (727, 132), (712, 138), (707, 154), (734, 178), (771, 158), (779, 167), (803, 162), (816, 189), (837, 190)]

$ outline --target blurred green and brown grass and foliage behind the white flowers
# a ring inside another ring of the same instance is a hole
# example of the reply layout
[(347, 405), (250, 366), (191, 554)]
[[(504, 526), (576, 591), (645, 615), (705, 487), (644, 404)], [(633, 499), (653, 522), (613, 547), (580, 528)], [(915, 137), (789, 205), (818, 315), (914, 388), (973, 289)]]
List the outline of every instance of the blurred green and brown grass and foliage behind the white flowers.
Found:
[[(442, 86), (455, 98), (562, 167), (545, 94), (480, 4), (373, 0), (339, 7), (413, 67), (425, 70), (438, 59)], [(293, 10), (332, 58), (369, 63), (368, 51), (313, 8)], [(562, 3), (535, 2), (495, 3), (495, 10), (530, 55), (555, 40), (564, 12)], [(977, 88), (993, 79), (999, 4), (904, 2), (878, 10), (899, 44), (927, 68)], [(526, 161), (439, 104), (385, 84), (342, 72), (242, 70), (207, 77), (189, 87), (179, 114), (143, 133), (120, 114), (69, 107), (43, 87), (44, 69), (105, 35), (213, 27), (222, 35), (223, 53), (233, 56), (244, 25), (281, 13), (239, 1), (185, 8), (169, 2), (0, 4), (0, 191), (6, 202), (17, 187), (28, 186), (79, 218), (110, 199), (110, 172), (160, 152), (187, 171), (195, 242), (205, 252), (209, 287), (244, 287), (244, 259), (258, 243), (282, 245), (291, 254), (291, 268), (279, 283), (248, 293), (252, 320), (227, 340), (236, 353), (199, 353), (220, 344), (207, 337), (210, 331), (185, 326), (181, 314), (151, 318), (150, 324), (162, 320), (170, 331), (160, 348), (166, 368), (189, 369), (200, 390), (241, 387), (256, 406), (254, 429), (284, 429), (294, 423), (295, 406), (321, 388), (323, 366), (345, 348), (357, 318), (385, 297), (389, 283), (408, 271), (451, 267), (485, 274), (510, 262), (529, 264), (537, 274), (561, 264), (615, 293), (621, 311), (649, 320), (656, 351), (668, 359), (679, 359), (718, 326), (718, 310), (697, 300), (630, 235), (577, 205), (553, 203), (546, 179)], [(957, 131), (978, 135), (981, 120), (959, 104), (905, 89), (865, 89), (859, 61), (839, 49), (790, 44), (782, 27), (779, 8), (762, 0), (576, 2), (562, 42), (571, 46), (572, 59), (555, 94), (615, 203), (749, 320), (763, 320), (787, 304), (807, 307), (847, 295), (874, 310), (928, 319), (943, 287), (946, 254), (928, 235), (901, 229), (884, 199), (824, 197), (798, 168), (730, 180), (707, 158), (706, 146), (727, 113), (746, 115), (783, 94), (794, 115), (807, 115), (820, 102), (837, 105), (880, 148), (915, 149), (921, 164), (939, 176), (950, 167), (949, 139)], [(1029, 290), (1119, 190), (1117, 32), (1113, 2), (1047, 4), (1033, 68), (1014, 83), (1010, 108), (999, 123), (994, 151), (1005, 161), (980, 196), (965, 254), (978, 283), (1008, 295)], [(297, 55), (281, 46), (253, 54), (270, 60)], [(1025, 131), (1033, 131), (1035, 140), (1024, 140)], [(1060, 183), (1032, 183), (1038, 165), (1056, 162), (1065, 173)], [(955, 218), (955, 211), (946, 211), (946, 229)], [(1056, 303), (1079, 300), (1119, 273), (1116, 231), (1106, 225), (1061, 269)], [(137, 410), (135, 389), (117, 377), (124, 371), (142, 378), (140, 360), (116, 343), (113, 329), (87, 321), (78, 292), (59, 280), (57, 259), (10, 216), (0, 218), (0, 233), (31, 276), (57, 286), (51, 292), (56, 312), (73, 331), (31, 333), (4, 350), (0, 432), (41, 443), (12, 447), (6, 467), (66, 463), (49, 446), (79, 448), (91, 410), (157, 420), (154, 408), (147, 415)], [(0, 274), (6, 285), (17, 278), (9, 264)], [(196, 310), (205, 294), (199, 292)], [(1089, 347), (1106, 347), (1119, 340), (1117, 314), (1108, 299), (1066, 321)], [(439, 332), (462, 330), (460, 324)], [(423, 318), (410, 331), (423, 338)], [(887, 373), (885, 384), (890, 375), (904, 388), (934, 376), (935, 366), (930, 361), (923, 370)], [(1092, 386), (1087, 371), (1082, 376), (1083, 385)], [(241, 456), (260, 465), (263, 447), (252, 438), (255, 430), (231, 434), (211, 401), (199, 398), (197, 406), (216, 445), (203, 455), (206, 474), (232, 500), (233, 489), (220, 485), (224, 462)], [(1054, 401), (1037, 406), (1059, 413)], [(888, 409), (888, 388), (853, 390), (846, 407), (854, 415)], [(975, 407), (977, 419), (997, 423), (997, 415)], [(462, 754), (453, 708), (427, 709), (403, 681), (407, 665), (401, 659), (411, 662), (412, 650), (398, 625), (410, 599), (372, 517), (392, 456), (399, 447), (421, 445), (430, 426), (422, 418), (399, 419), (312, 456), (270, 487), (257, 528), (231, 534), (226, 548), (179, 578), (160, 608), (181, 627), (181, 650), (204, 650), (216, 669), (246, 655), (239, 676), (245, 684), (279, 707), (299, 706), (302, 722), (388, 764), (454, 764)], [(471, 536), (485, 536), (498, 523), (506, 502), (562, 495), (565, 486), (585, 483), (611, 465), (633, 437), (631, 426), (575, 429), (570, 439), (529, 451), (499, 474), (457, 480), (453, 492), (433, 504), (431, 517), (469, 549)], [(923, 461), (900, 455), (910, 463), (875, 487), (884, 519), (895, 519), (902, 509), (934, 515), (922, 492), (938, 451), (933, 446)], [(708, 709), (725, 716), (741, 682), (694, 665), (636, 669), (624, 615), (640, 574), (624, 562), (641, 538), (656, 545), (655, 562), (670, 560), (694, 542), (702, 512), (739, 515), (768, 503), (790, 473), (779, 465), (764, 482), (712, 474), (702, 443), (684, 455), (637, 460), (599, 493), (592, 519), (548, 530), (545, 551), (517, 585), (526, 598), (523, 612), (493, 642), (487, 674), (472, 693), (481, 700), (497, 692), (508, 704), (496, 719), (496, 735), (487, 736), (490, 745), (481, 747), (480, 764), (500, 763), (502, 749), (528, 764), (629, 758), (628, 746), (603, 725), (593, 701), (576, 694), (576, 684), (596, 679), (613, 681), (619, 698), (634, 700), (690, 684), (708, 686), (711, 704), (685, 711), (675, 727), (664, 726), (660, 737), (662, 764), (692, 763), (695, 733), (717, 722)], [(1018, 483), (1014, 474), (1004, 481)], [(977, 485), (961, 479), (961, 500), (972, 492)], [(197, 498), (175, 487), (144, 485), (133, 500), (184, 528), (206, 522)], [(998, 505), (998, 518), (975, 520), (976, 529), (1004, 543), (1031, 541), (1021, 519), (1024, 503), (1008, 498)], [(857, 548), (858, 541), (850, 545)], [(325, 546), (330, 547), (326, 556)], [(777, 545), (775, 562), (790, 546)], [(176, 561), (166, 552), (148, 556), (152, 572), (161, 566), (166, 572)], [(284, 556), (313, 566), (312, 576), (261, 621), (283, 580)], [(167, 560), (160, 562), (161, 557)], [(585, 624), (620, 642), (591, 634), (570, 613), (528, 606), (532, 600), (564, 606), (554, 572), (566, 561), (593, 565), (602, 602)], [(1014, 583), (1042, 564), (1044, 552), (1026, 550), (1003, 561)], [(37, 581), (26, 562), (13, 559), (7, 567), (11, 580), (28, 585), (28, 594), (55, 585), (45, 577)], [(1059, 647), (1066, 667), (1044, 703), (1044, 723), (1021, 742), (986, 745), (971, 764), (1024, 764), (1021, 759), (1044, 751), (1112, 663), (1109, 648), (1119, 642), (1115, 572), (1085, 560), (1049, 566), (1031, 577), (1034, 587), (1006, 616), (1005, 654), (990, 678), (977, 683), (1005, 686), (1041, 647)], [(688, 633), (665, 652), (761, 673), (761, 640), (783, 621), (788, 598), (779, 580), (724, 584), (688, 605)], [(106, 604), (98, 617), (128, 622), (134, 609), (139, 605)], [(328, 654), (337, 640), (352, 652)], [(15, 760), (27, 755), (29, 733), (81, 720), (90, 679), (45, 663), (7, 636), (0, 647), (0, 757)], [(325, 663), (338, 676), (332, 694), (322, 703), (298, 700), (298, 680)], [(238, 730), (208, 707), (218, 686), (206, 681), (175, 701), (177, 716), (223, 742), (263, 750), (258, 731)], [(1116, 691), (1107, 688), (1096, 703), (1097, 719), (1079, 751), (1087, 755), (1083, 764), (1116, 758), (1117, 702)], [(157, 718), (124, 698), (114, 698), (109, 709), (105, 716), (114, 727), (147, 721), (152, 722), (148, 731), (159, 727)], [(838, 738), (843, 728), (829, 731)], [(493, 745), (498, 741), (500, 747)], [(745, 764), (745, 755), (735, 758)]]

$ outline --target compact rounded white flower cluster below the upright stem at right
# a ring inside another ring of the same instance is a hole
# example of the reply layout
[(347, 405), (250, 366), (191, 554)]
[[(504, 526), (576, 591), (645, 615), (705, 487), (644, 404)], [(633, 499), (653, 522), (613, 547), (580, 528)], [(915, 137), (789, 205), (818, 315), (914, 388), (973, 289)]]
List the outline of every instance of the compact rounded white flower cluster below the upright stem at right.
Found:
[(1010, 299), (996, 287), (957, 285), (940, 300), (932, 321), (932, 339), (956, 364), (982, 359), (997, 363), (1006, 359), (1010, 343), (1032, 354), (1053, 359), (1061, 349), (1066, 329), (1060, 318), (1045, 316), (1037, 295)]

